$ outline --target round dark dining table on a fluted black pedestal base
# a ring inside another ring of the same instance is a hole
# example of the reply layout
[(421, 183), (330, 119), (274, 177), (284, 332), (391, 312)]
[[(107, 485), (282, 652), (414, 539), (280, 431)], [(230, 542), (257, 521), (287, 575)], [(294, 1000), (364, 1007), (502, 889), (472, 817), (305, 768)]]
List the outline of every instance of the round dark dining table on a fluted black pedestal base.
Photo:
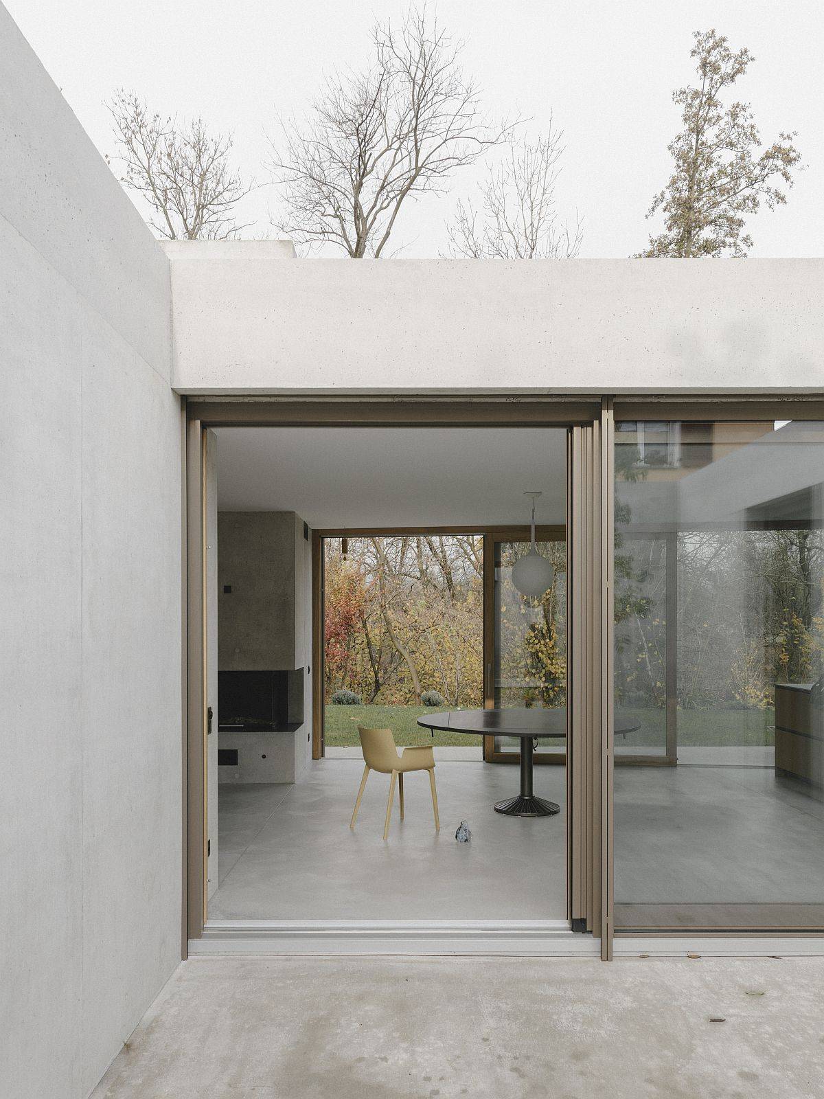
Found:
[[(466, 733), (474, 736), (516, 736), (521, 741), (521, 791), (514, 798), (495, 801), (497, 813), (508, 817), (554, 817), (559, 806), (538, 798), (532, 788), (534, 742), (567, 735), (565, 708), (547, 710), (512, 707), (505, 710), (449, 710), (417, 719), (433, 733)], [(639, 724), (615, 715), (615, 735), (626, 736)]]

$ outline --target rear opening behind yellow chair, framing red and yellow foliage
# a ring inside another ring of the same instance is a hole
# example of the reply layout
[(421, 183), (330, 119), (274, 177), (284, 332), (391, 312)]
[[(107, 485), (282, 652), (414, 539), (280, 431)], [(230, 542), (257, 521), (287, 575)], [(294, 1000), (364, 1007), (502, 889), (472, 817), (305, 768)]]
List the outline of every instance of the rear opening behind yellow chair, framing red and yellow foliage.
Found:
[(483, 536), (324, 539), (323, 596), (325, 754), (359, 754), (367, 725), (480, 759), (482, 737), (417, 719), (482, 706)]

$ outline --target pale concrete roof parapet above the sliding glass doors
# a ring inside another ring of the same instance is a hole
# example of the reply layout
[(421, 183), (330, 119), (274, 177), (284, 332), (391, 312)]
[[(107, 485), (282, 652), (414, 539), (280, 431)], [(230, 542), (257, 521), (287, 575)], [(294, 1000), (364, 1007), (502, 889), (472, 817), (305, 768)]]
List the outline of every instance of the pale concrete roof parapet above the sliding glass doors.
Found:
[(274, 243), (171, 251), (180, 392), (824, 388), (824, 259), (272, 263)]

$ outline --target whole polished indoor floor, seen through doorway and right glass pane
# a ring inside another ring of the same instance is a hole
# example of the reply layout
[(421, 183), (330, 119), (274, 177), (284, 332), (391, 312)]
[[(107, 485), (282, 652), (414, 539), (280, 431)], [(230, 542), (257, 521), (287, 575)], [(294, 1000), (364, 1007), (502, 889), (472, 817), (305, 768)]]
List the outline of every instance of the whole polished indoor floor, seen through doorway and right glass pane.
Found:
[[(412, 774), (386, 843), (388, 776), (369, 776), (349, 830), (358, 750), (313, 763), (294, 785), (222, 785), (209, 918), (565, 920), (564, 811), (501, 817), (492, 803), (516, 791), (517, 768), (448, 751), (435, 770), (441, 832), (427, 776)], [(536, 792), (561, 807), (565, 781), (564, 767), (535, 768)], [(467, 844), (455, 840), (461, 820)], [(824, 806), (771, 768), (620, 767), (616, 925), (821, 925), (823, 843)]]

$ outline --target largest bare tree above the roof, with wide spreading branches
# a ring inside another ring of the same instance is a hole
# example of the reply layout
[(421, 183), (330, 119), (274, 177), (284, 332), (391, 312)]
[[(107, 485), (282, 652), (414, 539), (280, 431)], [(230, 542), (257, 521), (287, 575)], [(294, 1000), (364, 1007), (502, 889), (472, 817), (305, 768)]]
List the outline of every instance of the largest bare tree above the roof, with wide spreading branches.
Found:
[(335, 76), (303, 124), (283, 125), (271, 168), (296, 243), (331, 243), (350, 258), (379, 257), (408, 198), (441, 191), (511, 130), (483, 114), (454, 42), (425, 8), (400, 29), (378, 23), (361, 74)]

